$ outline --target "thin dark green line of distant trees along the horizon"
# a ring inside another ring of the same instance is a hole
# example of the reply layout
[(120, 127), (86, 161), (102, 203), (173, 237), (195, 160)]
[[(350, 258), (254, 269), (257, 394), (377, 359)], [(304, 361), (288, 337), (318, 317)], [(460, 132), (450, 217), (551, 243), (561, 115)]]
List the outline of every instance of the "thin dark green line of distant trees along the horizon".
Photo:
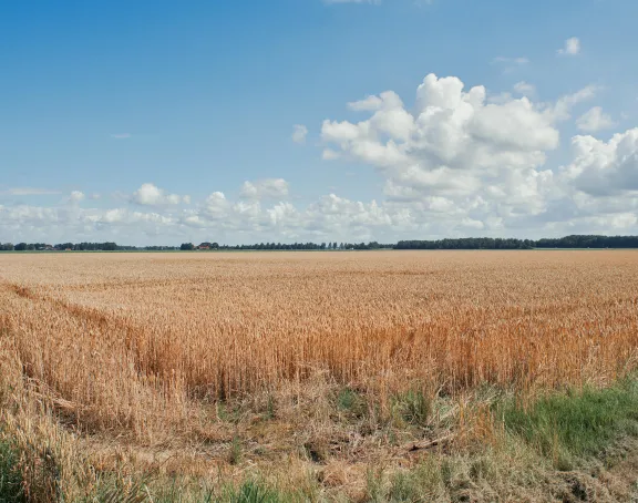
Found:
[(254, 245), (219, 245), (204, 242), (199, 245), (183, 243), (179, 246), (122, 246), (116, 243), (0, 243), (0, 252), (126, 252), (126, 250), (350, 250), (350, 249), (533, 249), (533, 248), (638, 248), (638, 236), (573, 235), (560, 238), (516, 239), (492, 237), (464, 237), (459, 239), (400, 240), (397, 244), (369, 243), (258, 243)]

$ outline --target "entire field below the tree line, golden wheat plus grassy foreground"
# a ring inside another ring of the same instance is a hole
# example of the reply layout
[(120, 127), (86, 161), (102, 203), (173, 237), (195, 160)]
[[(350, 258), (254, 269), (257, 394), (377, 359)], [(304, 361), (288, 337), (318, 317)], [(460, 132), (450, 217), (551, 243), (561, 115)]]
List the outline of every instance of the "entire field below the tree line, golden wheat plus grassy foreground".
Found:
[(0, 309), (0, 501), (636, 489), (638, 252), (3, 254)]

